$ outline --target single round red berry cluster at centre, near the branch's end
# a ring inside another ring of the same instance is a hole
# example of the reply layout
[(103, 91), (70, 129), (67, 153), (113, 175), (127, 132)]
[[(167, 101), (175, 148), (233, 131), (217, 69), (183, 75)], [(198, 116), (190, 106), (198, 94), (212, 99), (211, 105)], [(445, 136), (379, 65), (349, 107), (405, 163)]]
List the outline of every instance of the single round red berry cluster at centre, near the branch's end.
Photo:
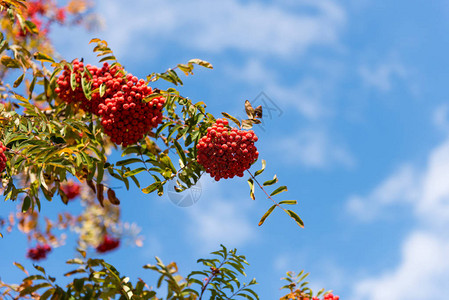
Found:
[(242, 177), (259, 156), (255, 142), (257, 136), (252, 130), (231, 129), (228, 120), (217, 119), (196, 146), (197, 162), (217, 181)]

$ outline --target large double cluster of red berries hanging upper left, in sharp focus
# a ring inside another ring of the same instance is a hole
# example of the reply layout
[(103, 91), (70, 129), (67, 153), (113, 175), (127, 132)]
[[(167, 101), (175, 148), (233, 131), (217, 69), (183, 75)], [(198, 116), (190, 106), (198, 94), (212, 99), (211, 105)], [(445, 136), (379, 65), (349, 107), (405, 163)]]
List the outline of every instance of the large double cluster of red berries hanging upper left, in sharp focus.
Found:
[[(72, 68), (73, 71), (66, 66), (59, 76), (56, 93), (63, 101), (79, 103), (83, 110), (100, 116), (105, 133), (114, 143), (124, 147), (135, 144), (162, 122), (165, 98), (156, 97), (144, 102), (152, 89), (143, 79), (131, 74), (124, 76), (121, 68), (111, 67), (108, 63), (101, 69), (90, 65), (84, 68), (82, 62), (74, 60)], [(72, 89), (71, 76), (74, 76), (75, 89)], [(82, 80), (90, 82), (95, 91), (90, 100), (83, 92)], [(104, 93), (100, 94), (102, 87)]]

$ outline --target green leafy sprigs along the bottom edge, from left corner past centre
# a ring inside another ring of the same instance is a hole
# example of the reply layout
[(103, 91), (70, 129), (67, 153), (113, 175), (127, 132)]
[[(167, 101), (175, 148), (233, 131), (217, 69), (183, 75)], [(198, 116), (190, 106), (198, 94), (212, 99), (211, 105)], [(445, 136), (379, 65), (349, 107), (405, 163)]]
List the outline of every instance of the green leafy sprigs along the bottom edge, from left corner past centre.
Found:
[[(73, 280), (62, 288), (56, 283), (56, 279), (48, 275), (45, 269), (35, 265), (39, 272), (29, 276), (28, 271), (18, 263), (15, 265), (24, 271), (25, 277), (20, 285), (8, 285), (0, 281), (0, 292), (3, 297), (28, 297), (40, 299), (162, 299), (157, 297), (155, 290), (150, 288), (142, 279), (133, 284), (129, 277), (121, 276), (114, 266), (103, 259), (86, 258), (84, 251), (79, 251), (81, 258), (67, 261), (67, 264), (76, 265), (73, 271), (64, 274), (74, 277)], [(156, 257), (156, 265), (145, 265), (145, 269), (153, 270), (159, 274), (156, 289), (158, 293), (165, 284), (167, 292), (163, 299), (167, 300), (195, 300), (208, 299), (259, 299), (251, 289), (256, 284), (253, 279), (248, 284), (242, 284), (239, 276), (246, 276), (245, 265), (248, 263), (236, 250), (222, 249), (212, 253), (221, 259), (200, 259), (203, 270), (193, 271), (187, 277), (178, 274), (176, 263), (165, 265)], [(204, 280), (195, 277), (205, 276)], [(199, 285), (199, 286), (198, 286)], [(193, 287), (198, 287), (198, 291)]]

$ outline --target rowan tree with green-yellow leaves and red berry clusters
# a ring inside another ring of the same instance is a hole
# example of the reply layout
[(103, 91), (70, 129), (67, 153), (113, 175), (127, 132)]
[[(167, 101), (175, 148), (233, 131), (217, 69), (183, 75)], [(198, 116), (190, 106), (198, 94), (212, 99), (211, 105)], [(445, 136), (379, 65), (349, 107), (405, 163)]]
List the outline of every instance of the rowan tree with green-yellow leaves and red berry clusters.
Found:
[[(4, 297), (160, 299), (143, 280), (132, 283), (114, 266), (86, 255), (88, 248), (101, 254), (120, 247), (124, 235), (120, 228), (126, 227), (120, 206), (127, 204), (109, 185), (112, 178), (127, 190), (135, 186), (144, 194), (162, 196), (167, 183), (175, 182), (175, 190), (182, 192), (206, 173), (217, 181), (247, 176), (250, 198), (255, 199), (258, 188), (272, 201), (259, 225), (279, 208), (304, 226), (288, 208), (297, 204), (295, 200), (277, 200), (287, 187), (273, 187), (276, 175), (260, 179), (266, 162), (259, 161), (258, 137), (251, 128), (260, 123), (262, 107), (242, 102), (244, 120), (225, 112), (214, 116), (206, 103), (176, 89), (183, 84), (178, 73), (191, 76), (195, 67), (212, 69), (209, 62), (191, 59), (138, 78), (120, 64), (106, 41), (96, 38), (91, 44), (98, 64), (61, 58), (48, 32), (56, 24), (77, 26), (92, 17), (85, 1), (58, 6), (51, 0), (2, 0), (0, 15), (1, 189), (5, 201), (17, 204), (17, 211), (0, 221), (0, 235), (15, 229), (26, 234), (35, 243), (26, 256), (38, 261), (62, 245), (59, 231), (76, 228), (78, 233), (77, 257), (67, 262), (77, 267), (65, 274), (73, 277), (71, 283), (61, 287), (43, 267), (35, 265), (38, 274), (29, 275), (15, 263), (27, 277), (18, 285), (0, 282)], [(160, 80), (172, 87), (158, 88)], [(122, 158), (114, 160), (111, 151)], [(151, 182), (142, 186), (142, 178)], [(42, 201), (59, 198), (69, 212), (56, 220), (45, 218)], [(84, 210), (74, 215), (70, 201), (78, 198)], [(142, 244), (138, 236), (133, 239)], [(158, 258), (156, 265), (144, 268), (159, 273), (155, 286), (166, 285), (166, 299), (259, 298), (252, 289), (255, 279), (240, 282), (248, 264), (244, 256), (224, 246), (211, 255), (198, 260), (202, 270), (185, 277), (178, 274), (175, 263), (165, 265)], [(287, 275), (289, 284), (284, 288), (289, 293), (282, 299), (314, 297), (303, 283), (306, 275)], [(315, 297), (321, 295), (323, 291)], [(338, 299), (330, 293), (324, 297)]]

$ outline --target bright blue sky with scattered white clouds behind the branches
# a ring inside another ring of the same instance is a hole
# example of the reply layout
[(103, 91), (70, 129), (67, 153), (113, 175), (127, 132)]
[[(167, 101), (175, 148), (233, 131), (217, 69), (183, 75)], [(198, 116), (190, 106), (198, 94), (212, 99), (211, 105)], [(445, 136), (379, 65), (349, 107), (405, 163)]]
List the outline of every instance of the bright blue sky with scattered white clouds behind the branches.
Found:
[[(299, 200), (306, 224), (300, 229), (275, 212), (258, 227), (270, 204), (260, 191), (250, 200), (246, 179), (205, 177), (201, 199), (188, 208), (120, 190), (122, 218), (142, 228), (144, 246), (122, 247), (106, 259), (151, 281), (140, 267), (155, 255), (187, 274), (224, 243), (247, 256), (261, 299), (279, 298), (280, 277), (301, 269), (311, 272), (313, 287), (334, 289), (342, 299), (445, 299), (446, 1), (136, 0), (99, 1), (97, 9), (103, 31), (53, 31), (65, 58), (95, 62), (92, 37), (107, 40), (141, 77), (201, 58), (214, 70), (197, 69), (180, 90), (213, 114), (242, 116), (244, 100), (261, 92), (277, 105), (256, 128), (264, 174), (276, 173), (289, 187), (282, 196)], [(14, 247), (3, 239), (2, 252), (24, 261), (12, 248), (26, 242), (7, 239)], [(72, 255), (69, 247), (56, 249), (44, 266), (61, 274), (58, 259)], [(3, 279), (20, 276), (14, 270)]]

